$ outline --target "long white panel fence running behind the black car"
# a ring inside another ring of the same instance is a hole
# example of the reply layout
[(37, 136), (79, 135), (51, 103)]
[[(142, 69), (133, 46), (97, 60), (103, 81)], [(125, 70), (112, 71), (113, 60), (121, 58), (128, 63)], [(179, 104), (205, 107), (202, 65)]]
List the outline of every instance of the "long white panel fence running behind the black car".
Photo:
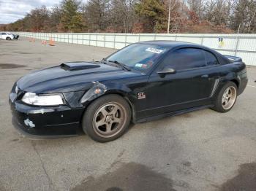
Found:
[(256, 34), (76, 34), (76, 33), (29, 33), (20, 36), (56, 42), (85, 44), (120, 49), (134, 42), (148, 40), (173, 40), (202, 44), (225, 55), (241, 57), (248, 65), (256, 66)]

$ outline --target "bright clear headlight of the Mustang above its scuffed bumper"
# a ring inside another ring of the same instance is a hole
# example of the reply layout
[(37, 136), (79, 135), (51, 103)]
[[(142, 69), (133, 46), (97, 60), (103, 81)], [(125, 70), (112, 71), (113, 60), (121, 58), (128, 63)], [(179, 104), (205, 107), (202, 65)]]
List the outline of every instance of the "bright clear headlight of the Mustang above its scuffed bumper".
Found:
[(64, 104), (61, 95), (37, 95), (25, 93), (21, 99), (24, 103), (34, 106), (59, 106)]

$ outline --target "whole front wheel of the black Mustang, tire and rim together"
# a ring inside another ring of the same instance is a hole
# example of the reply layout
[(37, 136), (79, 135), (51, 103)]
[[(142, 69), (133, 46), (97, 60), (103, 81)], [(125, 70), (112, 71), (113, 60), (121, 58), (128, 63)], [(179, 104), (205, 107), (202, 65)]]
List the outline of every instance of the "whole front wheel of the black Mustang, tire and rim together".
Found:
[(83, 131), (94, 141), (118, 139), (129, 127), (131, 109), (120, 95), (104, 95), (92, 102), (83, 115)]

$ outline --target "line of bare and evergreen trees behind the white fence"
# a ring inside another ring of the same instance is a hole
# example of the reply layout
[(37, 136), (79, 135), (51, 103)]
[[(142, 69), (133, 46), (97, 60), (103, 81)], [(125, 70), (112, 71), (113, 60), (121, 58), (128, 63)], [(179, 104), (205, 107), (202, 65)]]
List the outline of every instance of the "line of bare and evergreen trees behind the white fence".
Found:
[[(170, 11), (170, 13), (169, 13)], [(1, 31), (255, 33), (255, 0), (62, 0), (32, 9)]]

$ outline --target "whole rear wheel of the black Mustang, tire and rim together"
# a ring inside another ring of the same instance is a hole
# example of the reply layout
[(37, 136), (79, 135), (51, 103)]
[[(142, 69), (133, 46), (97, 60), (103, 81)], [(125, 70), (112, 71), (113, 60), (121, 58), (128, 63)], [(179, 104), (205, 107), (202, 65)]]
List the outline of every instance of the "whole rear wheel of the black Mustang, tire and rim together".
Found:
[(217, 112), (225, 113), (230, 111), (236, 104), (237, 86), (234, 82), (227, 82), (219, 91), (213, 109)]

